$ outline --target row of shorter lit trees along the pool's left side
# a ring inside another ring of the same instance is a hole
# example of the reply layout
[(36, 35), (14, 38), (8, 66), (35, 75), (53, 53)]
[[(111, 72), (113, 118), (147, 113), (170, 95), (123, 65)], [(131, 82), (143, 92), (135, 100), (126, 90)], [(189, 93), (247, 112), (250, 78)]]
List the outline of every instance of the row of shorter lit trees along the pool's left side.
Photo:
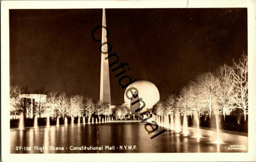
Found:
[[(20, 94), (23, 94), (25, 97), (20, 97)], [(15, 115), (15, 119), (16, 115), (21, 112), (23, 112), (24, 116), (26, 116), (27, 112), (28, 114), (31, 113), (31, 99), (29, 98), (29, 94), (28, 86), (10, 87), (10, 114)], [(34, 94), (38, 95), (38, 101), (34, 104), (33, 114), (36, 113), (39, 118), (41, 118), (42, 114), (51, 114), (52, 117), (58, 115), (64, 118), (65, 115), (91, 117), (93, 113), (98, 116), (101, 114), (109, 116), (113, 112), (107, 102), (94, 101), (92, 98), (84, 98), (80, 95), (68, 97), (65, 92), (60, 94), (57, 91), (49, 93), (44, 87), (36, 89)]]

